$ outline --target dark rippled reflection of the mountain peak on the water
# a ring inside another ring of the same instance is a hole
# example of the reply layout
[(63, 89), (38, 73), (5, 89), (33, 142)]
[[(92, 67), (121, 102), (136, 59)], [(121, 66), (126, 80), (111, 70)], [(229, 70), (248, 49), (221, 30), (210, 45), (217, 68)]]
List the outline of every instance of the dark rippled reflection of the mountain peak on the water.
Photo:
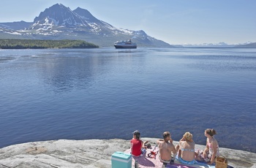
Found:
[(45, 83), (54, 90), (69, 91), (74, 87), (86, 88), (97, 73), (97, 58), (47, 58), (39, 72)]

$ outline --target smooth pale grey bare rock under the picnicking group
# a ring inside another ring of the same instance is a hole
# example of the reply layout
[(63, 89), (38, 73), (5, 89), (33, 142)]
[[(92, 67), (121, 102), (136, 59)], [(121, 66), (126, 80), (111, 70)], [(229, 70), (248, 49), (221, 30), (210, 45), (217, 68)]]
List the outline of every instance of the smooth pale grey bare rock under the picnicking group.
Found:
[[(158, 138), (143, 137), (151, 145)], [(173, 142), (178, 144), (177, 141)], [(129, 140), (50, 140), (0, 148), (0, 167), (111, 167), (111, 155), (130, 148)], [(205, 145), (195, 145), (203, 149)], [(233, 167), (256, 167), (256, 153), (219, 148)]]

